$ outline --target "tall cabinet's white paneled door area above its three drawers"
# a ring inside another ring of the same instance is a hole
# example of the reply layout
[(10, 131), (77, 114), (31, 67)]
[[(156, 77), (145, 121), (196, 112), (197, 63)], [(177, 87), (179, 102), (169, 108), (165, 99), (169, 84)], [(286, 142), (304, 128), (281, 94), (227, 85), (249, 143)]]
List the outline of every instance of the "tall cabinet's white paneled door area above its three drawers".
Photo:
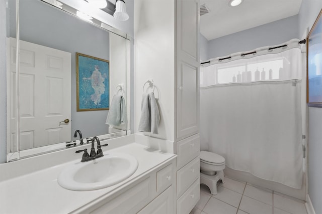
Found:
[(199, 132), (199, 10), (177, 0), (177, 140)]

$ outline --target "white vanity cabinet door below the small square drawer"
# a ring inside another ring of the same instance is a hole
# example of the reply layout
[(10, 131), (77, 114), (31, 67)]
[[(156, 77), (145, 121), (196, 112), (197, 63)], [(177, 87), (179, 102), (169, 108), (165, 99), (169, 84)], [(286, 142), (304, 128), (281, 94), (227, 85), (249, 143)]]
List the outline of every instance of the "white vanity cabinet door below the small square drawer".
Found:
[(174, 191), (170, 186), (137, 214), (171, 214), (174, 213), (174, 209)]

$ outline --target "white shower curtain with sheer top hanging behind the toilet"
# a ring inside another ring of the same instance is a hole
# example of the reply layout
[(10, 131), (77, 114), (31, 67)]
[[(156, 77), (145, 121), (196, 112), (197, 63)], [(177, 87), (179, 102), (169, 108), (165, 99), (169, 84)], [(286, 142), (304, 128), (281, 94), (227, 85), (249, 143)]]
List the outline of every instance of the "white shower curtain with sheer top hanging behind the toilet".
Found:
[(293, 48), (201, 68), (201, 149), (229, 168), (300, 188), (300, 63)]

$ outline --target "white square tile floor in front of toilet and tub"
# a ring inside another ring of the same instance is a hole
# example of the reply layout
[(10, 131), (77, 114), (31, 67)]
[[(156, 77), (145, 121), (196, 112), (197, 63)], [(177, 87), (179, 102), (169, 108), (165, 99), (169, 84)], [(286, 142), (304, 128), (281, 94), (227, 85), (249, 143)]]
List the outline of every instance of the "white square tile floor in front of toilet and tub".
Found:
[(218, 182), (218, 194), (200, 185), (200, 200), (190, 214), (307, 214), (304, 201), (270, 189), (225, 177)]

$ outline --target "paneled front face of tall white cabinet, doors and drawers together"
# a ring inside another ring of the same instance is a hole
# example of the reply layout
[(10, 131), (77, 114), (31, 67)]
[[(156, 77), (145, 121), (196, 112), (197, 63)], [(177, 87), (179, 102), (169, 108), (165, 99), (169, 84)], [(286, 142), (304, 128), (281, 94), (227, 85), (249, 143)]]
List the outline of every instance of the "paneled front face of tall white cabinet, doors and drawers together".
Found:
[(189, 213), (200, 198), (199, 1), (177, 0), (176, 213)]

